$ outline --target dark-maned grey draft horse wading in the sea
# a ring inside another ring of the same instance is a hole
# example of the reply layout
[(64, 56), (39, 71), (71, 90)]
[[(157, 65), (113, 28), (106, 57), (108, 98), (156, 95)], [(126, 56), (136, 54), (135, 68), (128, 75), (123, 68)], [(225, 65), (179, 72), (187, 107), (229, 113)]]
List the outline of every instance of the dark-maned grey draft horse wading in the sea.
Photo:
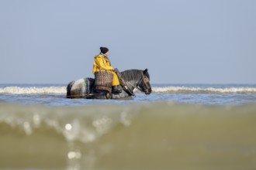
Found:
[[(127, 90), (122, 90), (121, 93), (96, 93), (94, 88), (90, 90), (90, 93), (86, 92), (85, 79), (79, 79), (71, 81), (67, 85), (67, 98), (86, 98), (86, 99), (121, 99), (125, 97), (133, 96), (133, 90), (137, 89), (142, 93), (150, 94), (150, 75), (148, 70), (125, 70), (121, 72), (123, 80), (126, 82)], [(88, 78), (94, 80), (92, 78)], [(129, 91), (131, 93), (129, 93)]]

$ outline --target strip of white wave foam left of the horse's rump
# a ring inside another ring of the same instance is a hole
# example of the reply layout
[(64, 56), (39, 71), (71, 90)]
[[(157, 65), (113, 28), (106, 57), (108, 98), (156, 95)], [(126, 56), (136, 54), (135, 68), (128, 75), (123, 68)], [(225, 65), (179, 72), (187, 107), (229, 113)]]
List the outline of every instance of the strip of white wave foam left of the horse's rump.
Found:
[(12, 94), (64, 94), (66, 87), (5, 87), (0, 93)]

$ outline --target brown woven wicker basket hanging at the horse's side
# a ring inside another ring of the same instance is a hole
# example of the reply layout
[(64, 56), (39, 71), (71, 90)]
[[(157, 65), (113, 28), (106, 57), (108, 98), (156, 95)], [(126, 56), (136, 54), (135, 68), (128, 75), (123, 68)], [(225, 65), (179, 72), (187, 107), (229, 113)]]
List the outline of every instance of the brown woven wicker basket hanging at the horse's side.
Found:
[(111, 93), (113, 74), (107, 71), (95, 72), (95, 90), (106, 90)]

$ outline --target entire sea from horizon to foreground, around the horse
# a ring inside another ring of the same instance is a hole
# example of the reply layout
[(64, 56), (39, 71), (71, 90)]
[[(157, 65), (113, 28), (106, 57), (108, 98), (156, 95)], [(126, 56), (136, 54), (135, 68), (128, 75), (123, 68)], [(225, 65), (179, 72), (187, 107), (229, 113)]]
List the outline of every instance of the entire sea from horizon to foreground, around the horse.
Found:
[(256, 85), (153, 84), (123, 100), (0, 85), (0, 169), (256, 169)]

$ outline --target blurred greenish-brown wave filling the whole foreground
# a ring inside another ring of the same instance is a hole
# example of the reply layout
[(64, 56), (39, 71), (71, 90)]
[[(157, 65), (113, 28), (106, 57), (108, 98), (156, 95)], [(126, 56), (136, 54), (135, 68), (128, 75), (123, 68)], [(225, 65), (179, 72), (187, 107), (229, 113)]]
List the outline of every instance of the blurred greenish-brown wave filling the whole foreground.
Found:
[(0, 168), (254, 169), (255, 110), (170, 102), (0, 104)]

